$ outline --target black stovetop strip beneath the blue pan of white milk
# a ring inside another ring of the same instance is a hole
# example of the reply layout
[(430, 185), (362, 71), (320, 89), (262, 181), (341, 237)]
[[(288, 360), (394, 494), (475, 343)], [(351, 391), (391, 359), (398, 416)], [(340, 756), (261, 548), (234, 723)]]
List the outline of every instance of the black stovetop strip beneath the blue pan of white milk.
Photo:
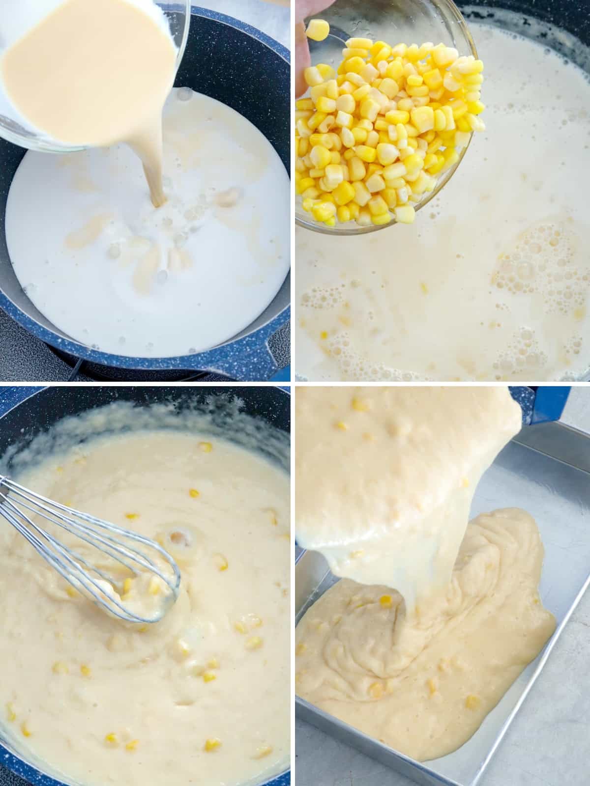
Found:
[(100, 365), (76, 358), (76, 355), (69, 354), (50, 344), (46, 344), (48, 349), (57, 355), (60, 360), (67, 363), (72, 369), (68, 382), (89, 379), (95, 382), (194, 382), (197, 380), (210, 382), (234, 381), (229, 376), (212, 374), (208, 371), (194, 371), (182, 369), (167, 369), (165, 371), (153, 371), (142, 369), (117, 369), (110, 365)]

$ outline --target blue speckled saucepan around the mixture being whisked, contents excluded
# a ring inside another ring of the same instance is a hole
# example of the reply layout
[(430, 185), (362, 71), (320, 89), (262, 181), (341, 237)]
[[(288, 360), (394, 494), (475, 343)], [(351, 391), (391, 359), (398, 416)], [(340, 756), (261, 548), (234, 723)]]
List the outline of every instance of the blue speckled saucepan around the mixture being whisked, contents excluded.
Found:
[[(277, 446), (271, 448), (272, 436), (261, 442), (260, 450), (274, 457), (289, 471), (289, 457), (280, 447), (290, 430), (290, 395), (279, 387), (4, 387), (0, 389), (0, 461), (9, 471), (15, 460), (32, 439), (61, 421), (63, 417), (86, 413), (112, 402), (131, 402), (135, 406), (171, 405), (182, 413), (186, 407), (204, 409), (212, 417), (213, 427), (227, 439), (239, 443), (240, 436), (232, 427), (233, 411), (228, 403), (239, 399), (240, 412), (256, 418), (256, 432), (275, 435)], [(269, 429), (270, 427), (270, 429)], [(105, 428), (109, 424), (105, 419)], [(268, 445), (268, 449), (266, 447)], [(6, 457), (11, 457), (6, 459)], [(2, 459), (5, 457), (5, 459)], [(7, 465), (7, 466), (6, 466)], [(7, 769), (3, 769), (7, 768)], [(22, 780), (14, 780), (14, 773)], [(33, 765), (2, 736), (0, 729), (0, 786), (65, 786), (54, 777), (43, 773), (39, 763)], [(286, 770), (260, 786), (289, 786), (290, 773)]]

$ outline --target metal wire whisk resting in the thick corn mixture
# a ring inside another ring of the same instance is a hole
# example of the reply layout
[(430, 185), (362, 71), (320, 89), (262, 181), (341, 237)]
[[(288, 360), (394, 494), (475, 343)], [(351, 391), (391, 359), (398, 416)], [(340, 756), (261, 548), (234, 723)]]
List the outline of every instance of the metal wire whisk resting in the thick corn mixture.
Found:
[[(59, 502), (35, 494), (6, 476), (0, 476), (0, 516), (27, 538), (39, 554), (55, 568), (74, 589), (86, 594), (110, 615), (131, 623), (156, 623), (162, 619), (169, 606), (176, 601), (180, 586), (180, 570), (175, 560), (158, 543), (144, 538), (136, 532), (116, 527), (95, 516), (61, 505)], [(93, 565), (84, 556), (46, 531), (33, 517), (40, 517), (55, 527), (75, 535), (87, 544), (107, 555), (115, 563), (127, 568), (134, 576), (139, 568), (157, 576), (171, 590), (168, 603), (162, 603), (160, 612), (151, 617), (142, 617), (121, 602), (120, 592), (124, 579)], [(139, 548), (142, 547), (142, 549)], [(146, 550), (148, 553), (146, 554)], [(152, 556), (149, 556), (149, 551)], [(170, 568), (166, 575), (153, 557), (157, 554), (160, 563)], [(98, 577), (98, 578), (97, 578)], [(105, 586), (105, 582), (106, 586)], [(112, 594), (111, 594), (112, 593)]]

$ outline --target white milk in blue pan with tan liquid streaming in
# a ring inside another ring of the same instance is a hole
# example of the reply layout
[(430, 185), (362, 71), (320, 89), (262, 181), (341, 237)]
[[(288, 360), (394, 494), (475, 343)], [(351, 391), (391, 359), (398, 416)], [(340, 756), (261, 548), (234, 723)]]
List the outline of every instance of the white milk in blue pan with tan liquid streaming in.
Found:
[(126, 145), (28, 152), (6, 208), (20, 284), (58, 329), (101, 351), (166, 357), (229, 340), (289, 270), (289, 178), (237, 112), (187, 88), (164, 108), (154, 209)]

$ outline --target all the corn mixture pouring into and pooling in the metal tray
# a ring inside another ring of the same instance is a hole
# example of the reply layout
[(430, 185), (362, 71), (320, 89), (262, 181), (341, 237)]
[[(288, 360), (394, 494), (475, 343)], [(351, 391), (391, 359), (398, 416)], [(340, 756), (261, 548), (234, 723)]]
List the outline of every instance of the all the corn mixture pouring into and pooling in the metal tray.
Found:
[(467, 524), (521, 421), (507, 387), (297, 388), (297, 541), (347, 577), (297, 626), (297, 693), (415, 759), (468, 740), (555, 629), (531, 516)]

